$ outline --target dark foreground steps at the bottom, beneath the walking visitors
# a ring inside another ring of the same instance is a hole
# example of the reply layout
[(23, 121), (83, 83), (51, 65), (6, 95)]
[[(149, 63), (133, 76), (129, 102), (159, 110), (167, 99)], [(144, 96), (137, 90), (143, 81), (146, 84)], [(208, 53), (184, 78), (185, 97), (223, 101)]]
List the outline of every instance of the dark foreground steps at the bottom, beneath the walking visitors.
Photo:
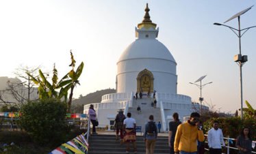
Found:
[[(137, 136), (136, 139), (138, 154), (145, 154), (146, 147), (144, 138), (142, 136)], [(88, 154), (125, 154), (126, 145), (120, 144), (119, 140), (115, 140), (114, 134), (99, 134), (97, 136), (90, 136), (89, 138), (89, 151)], [(130, 153), (133, 153), (132, 144), (130, 144)], [(168, 137), (159, 136), (157, 137), (157, 142), (155, 145), (154, 153), (157, 154), (167, 154), (170, 153), (168, 147)]]

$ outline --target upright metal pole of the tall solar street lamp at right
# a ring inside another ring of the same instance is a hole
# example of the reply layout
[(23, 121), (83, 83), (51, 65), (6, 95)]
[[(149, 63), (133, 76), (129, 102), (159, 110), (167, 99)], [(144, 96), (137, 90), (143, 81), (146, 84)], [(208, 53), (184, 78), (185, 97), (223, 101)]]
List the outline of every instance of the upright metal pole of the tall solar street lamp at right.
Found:
[[(238, 37), (239, 37), (239, 54), (241, 54), (241, 30), (240, 30), (240, 16), (238, 16)], [(242, 61), (239, 61), (240, 66), (240, 98), (241, 98), (241, 119), (243, 119), (243, 84), (242, 84)]]

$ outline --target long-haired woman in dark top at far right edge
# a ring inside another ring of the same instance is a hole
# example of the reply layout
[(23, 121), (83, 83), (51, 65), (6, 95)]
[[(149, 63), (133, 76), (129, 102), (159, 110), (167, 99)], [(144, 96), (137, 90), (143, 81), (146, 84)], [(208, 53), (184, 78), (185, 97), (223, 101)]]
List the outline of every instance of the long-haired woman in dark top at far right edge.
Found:
[(235, 146), (239, 149), (240, 154), (251, 154), (252, 142), (251, 130), (248, 127), (244, 127), (240, 132), (240, 136), (238, 136)]

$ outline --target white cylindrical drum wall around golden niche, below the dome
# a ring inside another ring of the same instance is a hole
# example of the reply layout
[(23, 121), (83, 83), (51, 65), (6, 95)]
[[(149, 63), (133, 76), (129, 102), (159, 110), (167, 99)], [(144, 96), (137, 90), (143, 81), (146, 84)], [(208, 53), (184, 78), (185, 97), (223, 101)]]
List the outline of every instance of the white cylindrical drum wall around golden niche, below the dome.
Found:
[(154, 77), (159, 93), (177, 93), (176, 63), (163, 59), (131, 59), (118, 63), (117, 93), (137, 91), (138, 74), (147, 69)]

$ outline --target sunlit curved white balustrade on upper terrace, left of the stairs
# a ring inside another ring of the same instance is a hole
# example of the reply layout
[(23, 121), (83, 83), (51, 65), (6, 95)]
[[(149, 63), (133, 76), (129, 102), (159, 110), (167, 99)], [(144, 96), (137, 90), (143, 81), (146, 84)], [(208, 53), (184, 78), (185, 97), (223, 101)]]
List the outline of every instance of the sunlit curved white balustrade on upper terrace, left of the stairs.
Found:
[(119, 102), (130, 99), (131, 93), (109, 93), (101, 97), (101, 102)]

